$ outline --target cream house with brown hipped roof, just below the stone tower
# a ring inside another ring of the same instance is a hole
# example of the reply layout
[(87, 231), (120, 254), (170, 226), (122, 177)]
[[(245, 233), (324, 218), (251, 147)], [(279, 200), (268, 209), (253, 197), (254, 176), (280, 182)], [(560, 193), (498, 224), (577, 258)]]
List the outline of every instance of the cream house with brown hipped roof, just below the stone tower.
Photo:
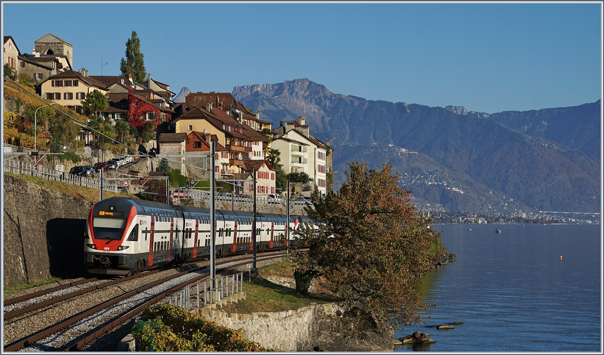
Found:
[(58, 104), (82, 113), (82, 100), (90, 92), (98, 90), (103, 94), (108, 92), (103, 84), (88, 76), (88, 71), (66, 70), (44, 80), (39, 85), (39, 94), (47, 100), (54, 100)]

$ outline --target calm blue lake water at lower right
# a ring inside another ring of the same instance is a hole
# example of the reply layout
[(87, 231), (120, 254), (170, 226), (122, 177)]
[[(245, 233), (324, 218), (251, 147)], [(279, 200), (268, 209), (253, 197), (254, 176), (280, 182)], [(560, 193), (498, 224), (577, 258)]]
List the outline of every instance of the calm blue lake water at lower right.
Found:
[(419, 330), (436, 343), (395, 351), (602, 350), (599, 225), (433, 228), (457, 261), (422, 278), (423, 301), (437, 304), (423, 313), (431, 318), (394, 337)]

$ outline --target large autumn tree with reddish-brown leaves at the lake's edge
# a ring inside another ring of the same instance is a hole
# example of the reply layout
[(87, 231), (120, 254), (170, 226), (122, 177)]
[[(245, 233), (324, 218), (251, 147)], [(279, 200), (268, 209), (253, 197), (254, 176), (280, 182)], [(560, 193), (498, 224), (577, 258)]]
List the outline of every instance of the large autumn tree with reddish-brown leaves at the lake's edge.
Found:
[(359, 162), (349, 167), (338, 191), (322, 197), (315, 189), (313, 206), (306, 208), (312, 222), (304, 223), (297, 237), (309, 251), (292, 257), (296, 288), (307, 292), (310, 281), (321, 276), (333, 292), (366, 304), (394, 327), (420, 322), (418, 312), (427, 306), (413, 285), (435, 255), (445, 252), (440, 233), (409, 203), (411, 191), (399, 187), (390, 164), (381, 171)]

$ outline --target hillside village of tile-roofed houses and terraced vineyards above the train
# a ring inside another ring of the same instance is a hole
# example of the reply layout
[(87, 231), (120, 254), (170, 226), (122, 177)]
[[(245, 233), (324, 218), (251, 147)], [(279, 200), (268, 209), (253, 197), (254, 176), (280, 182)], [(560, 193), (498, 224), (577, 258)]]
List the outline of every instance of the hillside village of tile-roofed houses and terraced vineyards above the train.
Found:
[[(13, 37), (4, 36), (5, 152), (36, 150), (43, 158), (13, 159), (69, 171), (118, 155), (140, 155), (138, 161), (146, 163), (123, 172), (137, 176), (158, 170), (156, 155), (177, 155), (168, 159), (169, 167), (188, 184), (210, 179), (210, 165), (199, 155), (214, 141), (216, 179), (243, 181), (236, 193), (252, 194), (253, 171), (260, 194), (283, 193), (286, 174), (306, 176), (295, 188), (298, 194), (332, 189), (333, 149), (329, 139), (310, 133), (304, 117), (273, 127), (228, 92), (176, 95), (165, 83), (168, 78), (159, 82), (150, 73), (144, 82), (132, 74), (89, 75), (74, 66), (73, 50), (48, 33), (34, 41), (31, 54), (22, 53)], [(100, 96), (106, 107), (92, 108), (90, 102)]]

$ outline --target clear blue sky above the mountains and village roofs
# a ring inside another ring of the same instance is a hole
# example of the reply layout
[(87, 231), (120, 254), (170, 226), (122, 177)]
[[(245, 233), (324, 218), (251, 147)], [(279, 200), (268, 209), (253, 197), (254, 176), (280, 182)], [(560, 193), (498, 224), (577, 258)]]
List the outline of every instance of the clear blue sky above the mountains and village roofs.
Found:
[[(500, 112), (601, 97), (600, 4), (7, 4), (22, 53), (52, 33), (74, 68), (120, 74), (141, 39), (178, 93), (309, 78), (369, 100)], [(33, 14), (36, 14), (33, 16)]]

